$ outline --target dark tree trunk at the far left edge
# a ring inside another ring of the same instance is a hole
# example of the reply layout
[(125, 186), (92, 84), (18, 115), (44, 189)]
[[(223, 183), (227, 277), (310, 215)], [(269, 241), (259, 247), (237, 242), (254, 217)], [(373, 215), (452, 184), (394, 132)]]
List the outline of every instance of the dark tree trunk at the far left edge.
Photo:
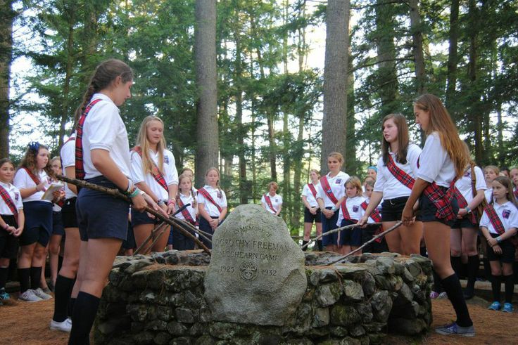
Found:
[(0, 157), (9, 155), (9, 83), (13, 61), (13, 0), (0, 0)]

